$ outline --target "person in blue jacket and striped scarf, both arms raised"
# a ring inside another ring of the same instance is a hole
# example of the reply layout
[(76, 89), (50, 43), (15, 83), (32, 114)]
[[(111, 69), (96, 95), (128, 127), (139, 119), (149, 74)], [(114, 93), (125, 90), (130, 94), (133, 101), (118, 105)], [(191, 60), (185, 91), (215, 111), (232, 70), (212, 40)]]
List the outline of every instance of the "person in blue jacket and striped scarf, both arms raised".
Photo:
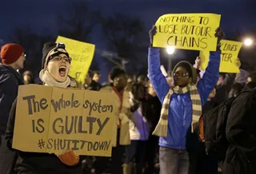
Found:
[(174, 86), (167, 84), (160, 69), (159, 49), (153, 48), (154, 26), (150, 30), (150, 48), (148, 71), (150, 81), (162, 102), (161, 117), (153, 134), (159, 138), (159, 160), (162, 174), (186, 174), (189, 172), (189, 155), (186, 151), (187, 132), (195, 132), (202, 106), (218, 81), (220, 65), (219, 42), (224, 34), (216, 30), (218, 46), (210, 53), (206, 73), (197, 83), (196, 70), (187, 61), (181, 61), (174, 67)]

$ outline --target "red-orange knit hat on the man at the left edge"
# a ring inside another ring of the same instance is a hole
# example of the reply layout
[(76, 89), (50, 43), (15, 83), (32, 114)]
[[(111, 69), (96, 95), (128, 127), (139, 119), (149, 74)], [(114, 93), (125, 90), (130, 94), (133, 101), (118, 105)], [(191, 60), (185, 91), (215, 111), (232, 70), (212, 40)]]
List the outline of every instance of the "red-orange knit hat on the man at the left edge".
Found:
[(9, 65), (18, 60), (24, 53), (24, 49), (21, 45), (9, 43), (2, 45), (0, 57), (2, 58), (2, 64)]

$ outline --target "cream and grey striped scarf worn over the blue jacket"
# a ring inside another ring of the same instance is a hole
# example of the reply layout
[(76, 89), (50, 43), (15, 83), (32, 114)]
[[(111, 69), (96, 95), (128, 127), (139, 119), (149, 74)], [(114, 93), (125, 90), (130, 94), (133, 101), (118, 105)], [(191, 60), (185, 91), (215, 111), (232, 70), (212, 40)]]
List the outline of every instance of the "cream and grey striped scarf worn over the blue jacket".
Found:
[(187, 92), (190, 92), (190, 98), (192, 101), (191, 131), (194, 132), (194, 129), (198, 124), (199, 118), (201, 117), (201, 114), (202, 114), (202, 104), (201, 104), (201, 99), (200, 99), (196, 85), (187, 85), (184, 88), (175, 86), (174, 88), (171, 88), (169, 90), (169, 92), (167, 93), (162, 103), (160, 119), (158, 121), (158, 125), (154, 129), (153, 135), (162, 136), (162, 137), (167, 136), (170, 97), (173, 95), (173, 93), (187, 93)]

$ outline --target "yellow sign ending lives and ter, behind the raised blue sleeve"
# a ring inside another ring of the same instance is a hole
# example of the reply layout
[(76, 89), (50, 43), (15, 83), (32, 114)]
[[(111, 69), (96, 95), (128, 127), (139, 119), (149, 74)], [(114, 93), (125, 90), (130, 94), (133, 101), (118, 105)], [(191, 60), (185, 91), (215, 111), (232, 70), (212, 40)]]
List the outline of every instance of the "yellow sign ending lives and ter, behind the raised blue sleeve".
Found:
[[(221, 41), (221, 65), (219, 72), (221, 73), (239, 73), (238, 53), (242, 47), (242, 42), (234, 42), (228, 40)], [(201, 69), (206, 69), (209, 61), (210, 52), (200, 51), (199, 57), (201, 58)]]

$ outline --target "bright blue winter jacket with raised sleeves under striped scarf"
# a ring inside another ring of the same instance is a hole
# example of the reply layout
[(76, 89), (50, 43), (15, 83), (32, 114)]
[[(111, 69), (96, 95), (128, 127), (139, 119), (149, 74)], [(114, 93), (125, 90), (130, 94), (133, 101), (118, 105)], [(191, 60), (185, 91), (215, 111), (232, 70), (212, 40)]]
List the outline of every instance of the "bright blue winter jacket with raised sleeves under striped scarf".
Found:
[[(202, 105), (210, 92), (217, 84), (219, 76), (220, 52), (210, 52), (210, 61), (202, 79), (198, 81), (198, 93), (201, 97)], [(162, 75), (160, 69), (159, 49), (150, 48), (148, 55), (148, 73), (150, 81), (156, 90), (161, 102), (170, 89), (166, 82), (166, 77)], [(190, 93), (173, 94), (170, 98), (170, 109), (168, 116), (168, 131), (166, 137), (159, 138), (159, 145), (167, 148), (186, 148), (186, 132), (192, 122), (192, 101)]]

